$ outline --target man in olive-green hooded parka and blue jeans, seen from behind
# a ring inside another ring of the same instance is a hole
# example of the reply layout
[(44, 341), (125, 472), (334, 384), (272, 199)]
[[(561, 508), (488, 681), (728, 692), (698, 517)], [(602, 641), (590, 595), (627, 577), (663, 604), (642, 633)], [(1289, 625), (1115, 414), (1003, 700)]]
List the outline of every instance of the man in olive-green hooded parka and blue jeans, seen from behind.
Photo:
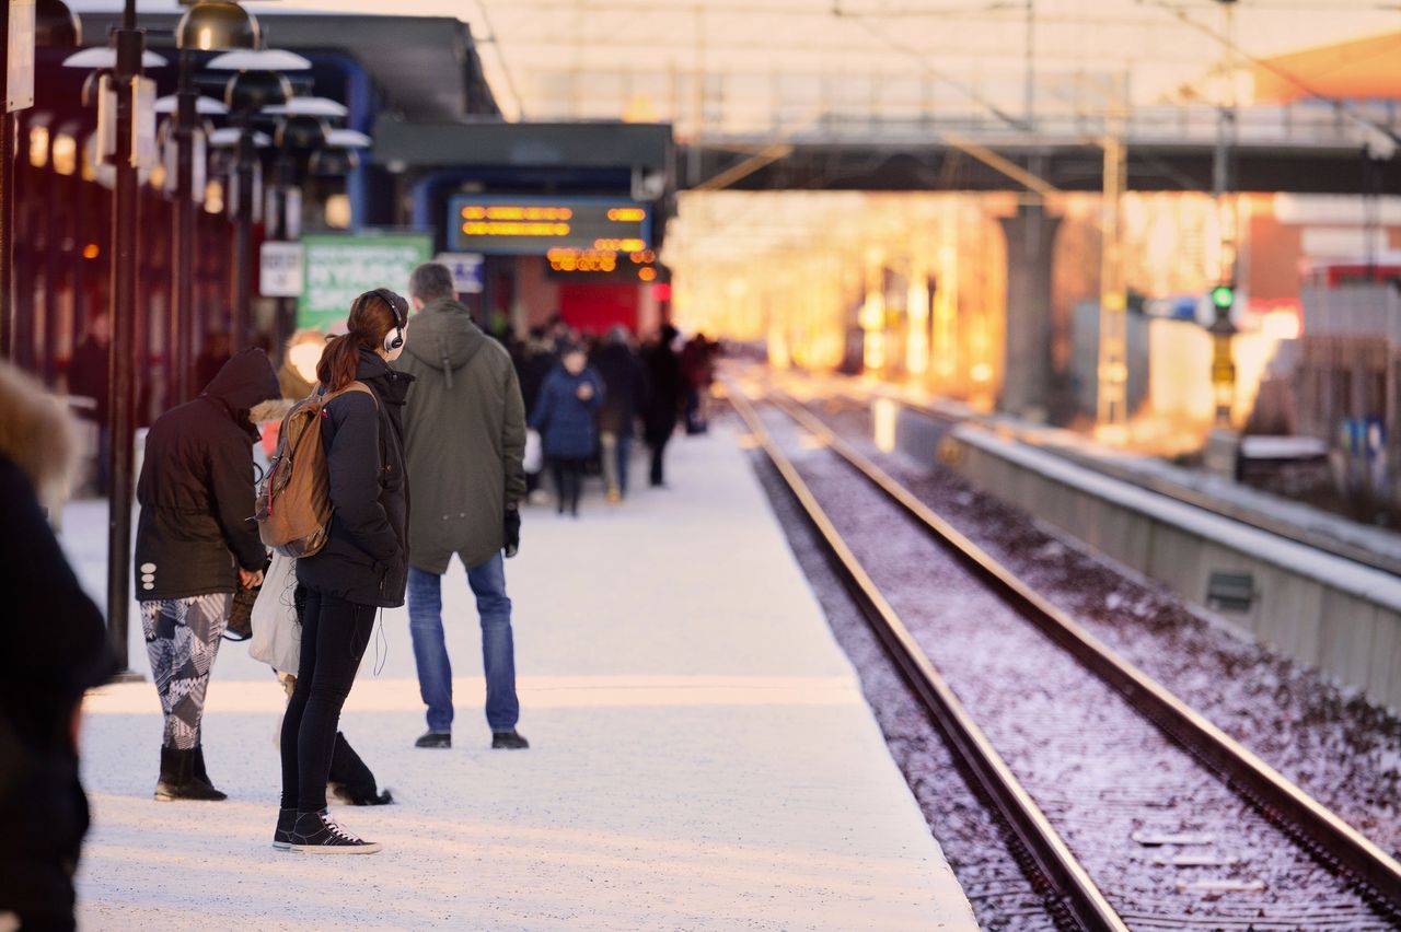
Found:
[(405, 414), (416, 495), (409, 526), (409, 634), (429, 726), (415, 746), (453, 746), (443, 574), (457, 554), (482, 626), (492, 747), (521, 750), (530, 743), (516, 730), (520, 701), (504, 557), (514, 557), (520, 547), (525, 404), (510, 354), (457, 302), (447, 266), (429, 262), (415, 269), (409, 295), (417, 313), (396, 365), (417, 378)]

